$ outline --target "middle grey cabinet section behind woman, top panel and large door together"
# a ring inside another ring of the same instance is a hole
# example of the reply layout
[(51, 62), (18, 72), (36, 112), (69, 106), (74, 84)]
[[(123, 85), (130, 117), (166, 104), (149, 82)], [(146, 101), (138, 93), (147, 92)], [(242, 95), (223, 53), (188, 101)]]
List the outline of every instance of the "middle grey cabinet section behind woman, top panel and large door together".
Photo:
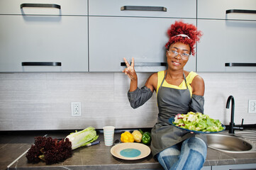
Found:
[[(137, 72), (164, 70), (168, 28), (180, 16), (196, 25), (196, 1), (107, 2), (89, 1), (89, 72), (121, 72), (126, 67), (121, 66), (123, 57), (129, 62), (135, 58)], [(191, 6), (184, 6), (182, 11), (174, 8), (186, 2)], [(155, 7), (165, 7), (166, 11), (154, 11)], [(186, 69), (196, 70), (196, 57), (189, 59)]]

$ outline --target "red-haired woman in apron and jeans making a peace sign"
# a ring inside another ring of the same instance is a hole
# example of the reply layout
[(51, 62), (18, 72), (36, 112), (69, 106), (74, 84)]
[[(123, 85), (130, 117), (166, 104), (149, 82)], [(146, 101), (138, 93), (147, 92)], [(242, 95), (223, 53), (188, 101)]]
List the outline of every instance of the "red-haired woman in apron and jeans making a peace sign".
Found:
[(123, 72), (130, 78), (128, 98), (130, 106), (138, 108), (157, 93), (159, 114), (152, 128), (151, 149), (153, 156), (164, 169), (201, 169), (207, 153), (206, 137), (180, 130), (168, 120), (178, 113), (204, 112), (204, 80), (184, 66), (201, 32), (192, 24), (176, 21), (167, 31), (167, 70), (152, 74), (141, 89), (134, 69), (134, 59)]

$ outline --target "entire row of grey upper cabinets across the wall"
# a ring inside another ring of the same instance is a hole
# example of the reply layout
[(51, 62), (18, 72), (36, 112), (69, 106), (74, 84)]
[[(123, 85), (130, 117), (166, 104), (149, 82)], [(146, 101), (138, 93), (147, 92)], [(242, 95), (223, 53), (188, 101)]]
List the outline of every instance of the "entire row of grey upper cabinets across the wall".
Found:
[(255, 0), (1, 0), (0, 72), (166, 69), (168, 28), (204, 33), (184, 69), (256, 72)]

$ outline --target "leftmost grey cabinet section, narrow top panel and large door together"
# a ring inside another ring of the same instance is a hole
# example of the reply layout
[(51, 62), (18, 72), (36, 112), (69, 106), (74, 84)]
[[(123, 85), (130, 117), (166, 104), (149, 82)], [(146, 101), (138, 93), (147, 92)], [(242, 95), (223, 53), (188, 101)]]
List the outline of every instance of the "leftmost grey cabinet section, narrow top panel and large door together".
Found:
[(87, 1), (0, 1), (0, 72), (88, 72)]

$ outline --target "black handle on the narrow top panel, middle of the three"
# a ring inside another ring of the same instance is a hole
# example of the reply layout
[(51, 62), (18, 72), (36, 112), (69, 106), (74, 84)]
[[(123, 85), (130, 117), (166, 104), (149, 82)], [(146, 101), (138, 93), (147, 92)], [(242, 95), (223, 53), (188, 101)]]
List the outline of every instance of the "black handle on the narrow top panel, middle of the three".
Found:
[(167, 11), (167, 8), (162, 6), (121, 6), (121, 11)]

